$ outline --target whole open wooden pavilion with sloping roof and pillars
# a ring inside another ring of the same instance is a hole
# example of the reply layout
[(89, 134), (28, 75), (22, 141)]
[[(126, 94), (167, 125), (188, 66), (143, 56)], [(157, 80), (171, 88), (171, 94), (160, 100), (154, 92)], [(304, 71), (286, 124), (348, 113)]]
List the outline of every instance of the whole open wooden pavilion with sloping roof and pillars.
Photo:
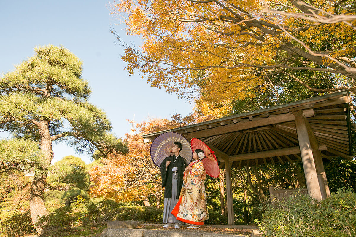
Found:
[(330, 195), (322, 158), (351, 157), (349, 91), (337, 91), (257, 111), (143, 135), (145, 143), (172, 131), (198, 138), (226, 169), (227, 215), (234, 224), (231, 167), (302, 161), (308, 194)]

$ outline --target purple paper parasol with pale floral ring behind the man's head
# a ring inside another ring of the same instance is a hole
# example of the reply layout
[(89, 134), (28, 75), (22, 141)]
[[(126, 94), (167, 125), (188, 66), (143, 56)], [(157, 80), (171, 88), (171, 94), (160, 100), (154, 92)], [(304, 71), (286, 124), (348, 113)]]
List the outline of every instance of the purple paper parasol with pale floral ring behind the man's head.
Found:
[(167, 132), (159, 135), (151, 144), (151, 157), (156, 166), (160, 167), (164, 158), (171, 155), (173, 143), (176, 141), (183, 145), (179, 155), (189, 164), (192, 159), (192, 150), (187, 139), (178, 133)]

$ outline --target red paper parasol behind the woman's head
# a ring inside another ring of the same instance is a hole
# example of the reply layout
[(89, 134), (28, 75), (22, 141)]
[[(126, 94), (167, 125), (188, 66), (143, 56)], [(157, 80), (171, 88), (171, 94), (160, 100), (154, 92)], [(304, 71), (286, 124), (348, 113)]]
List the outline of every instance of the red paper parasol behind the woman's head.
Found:
[(197, 138), (192, 138), (192, 140), (190, 141), (190, 146), (192, 147), (193, 152), (196, 149), (201, 149), (204, 151), (206, 158), (203, 158), (202, 161), (204, 164), (205, 172), (213, 178), (218, 178), (219, 165), (214, 155), (214, 151), (212, 151), (209, 146), (207, 146), (204, 142), (200, 141)]

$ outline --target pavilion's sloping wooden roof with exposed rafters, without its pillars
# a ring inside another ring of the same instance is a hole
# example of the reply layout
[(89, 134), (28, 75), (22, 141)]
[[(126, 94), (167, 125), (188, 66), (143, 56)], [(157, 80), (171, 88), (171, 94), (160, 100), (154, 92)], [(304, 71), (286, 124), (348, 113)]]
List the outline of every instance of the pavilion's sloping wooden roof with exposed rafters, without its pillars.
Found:
[(147, 143), (173, 131), (188, 140), (199, 138), (215, 150), (221, 165), (229, 160), (232, 167), (293, 162), (302, 160), (294, 123), (294, 113), (302, 111), (322, 157), (351, 159), (349, 102), (348, 91), (338, 91), (142, 137)]

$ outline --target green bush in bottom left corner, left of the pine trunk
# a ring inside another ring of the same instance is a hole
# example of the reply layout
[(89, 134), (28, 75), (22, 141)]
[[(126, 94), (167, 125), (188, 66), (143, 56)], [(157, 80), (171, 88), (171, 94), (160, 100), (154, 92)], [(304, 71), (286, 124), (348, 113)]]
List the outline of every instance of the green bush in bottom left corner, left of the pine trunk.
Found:
[(4, 227), (7, 236), (27, 235), (36, 231), (32, 225), (30, 211), (12, 216), (2, 222), (2, 227)]

